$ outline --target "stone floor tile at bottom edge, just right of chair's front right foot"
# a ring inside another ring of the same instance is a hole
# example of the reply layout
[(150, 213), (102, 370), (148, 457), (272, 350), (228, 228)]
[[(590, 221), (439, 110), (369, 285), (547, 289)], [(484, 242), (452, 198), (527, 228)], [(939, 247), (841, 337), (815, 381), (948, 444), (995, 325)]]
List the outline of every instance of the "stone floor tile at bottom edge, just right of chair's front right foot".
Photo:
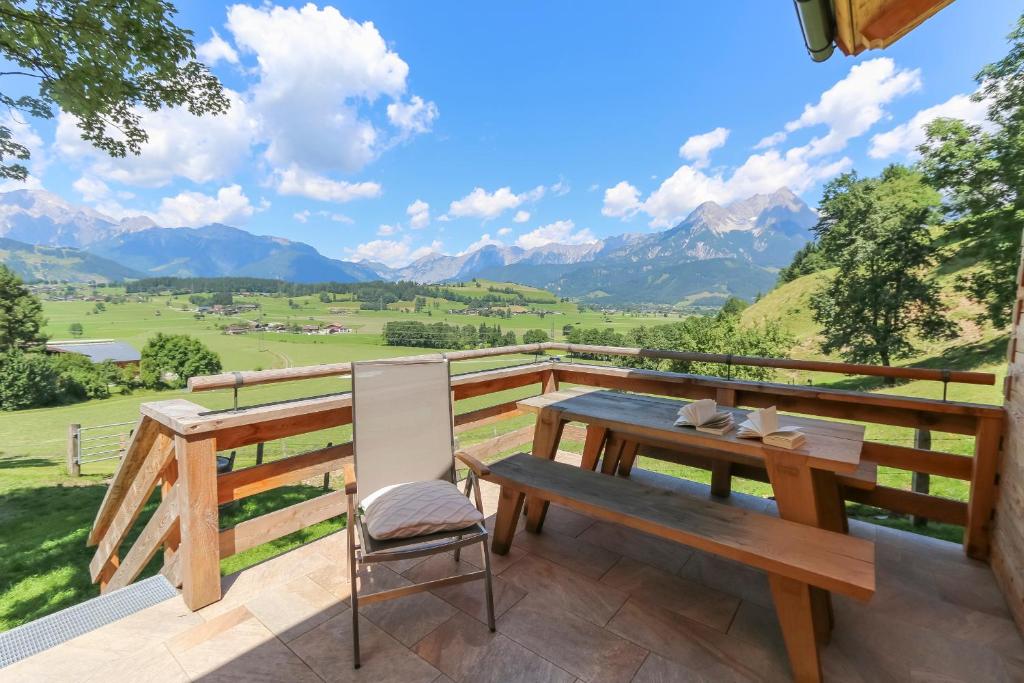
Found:
[(629, 681), (647, 655), (645, 649), (550, 604), (541, 594), (527, 595), (508, 610), (498, 631), (592, 683)]

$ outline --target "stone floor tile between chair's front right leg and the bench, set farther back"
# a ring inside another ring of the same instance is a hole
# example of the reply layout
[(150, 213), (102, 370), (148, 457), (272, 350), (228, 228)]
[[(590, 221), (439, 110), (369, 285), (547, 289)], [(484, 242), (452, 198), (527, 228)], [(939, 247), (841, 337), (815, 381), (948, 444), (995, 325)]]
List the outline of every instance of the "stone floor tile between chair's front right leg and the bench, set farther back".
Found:
[(520, 591), (543, 597), (553, 609), (568, 610), (597, 626), (607, 624), (627, 597), (622, 591), (532, 555), (516, 562), (502, 579)]

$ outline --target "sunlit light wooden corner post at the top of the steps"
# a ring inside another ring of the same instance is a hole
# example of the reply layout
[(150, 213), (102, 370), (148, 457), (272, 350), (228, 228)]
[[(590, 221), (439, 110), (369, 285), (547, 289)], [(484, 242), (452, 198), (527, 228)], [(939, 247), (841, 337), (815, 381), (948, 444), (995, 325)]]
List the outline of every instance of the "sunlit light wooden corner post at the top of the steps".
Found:
[(195, 611), (220, 599), (216, 439), (175, 434), (174, 451), (181, 515), (181, 592)]

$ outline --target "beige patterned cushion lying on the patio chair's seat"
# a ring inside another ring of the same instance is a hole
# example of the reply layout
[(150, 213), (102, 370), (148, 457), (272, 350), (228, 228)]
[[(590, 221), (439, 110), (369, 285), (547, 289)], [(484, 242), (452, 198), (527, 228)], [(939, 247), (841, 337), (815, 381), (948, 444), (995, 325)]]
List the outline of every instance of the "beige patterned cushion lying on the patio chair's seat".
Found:
[(455, 484), (440, 479), (385, 486), (362, 503), (367, 530), (378, 541), (454, 531), (483, 521)]

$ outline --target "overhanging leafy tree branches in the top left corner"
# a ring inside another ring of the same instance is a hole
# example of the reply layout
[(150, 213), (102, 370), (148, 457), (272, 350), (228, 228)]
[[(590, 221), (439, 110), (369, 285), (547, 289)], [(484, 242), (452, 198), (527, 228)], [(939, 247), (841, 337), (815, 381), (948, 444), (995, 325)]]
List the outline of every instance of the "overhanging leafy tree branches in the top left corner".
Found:
[[(196, 60), (193, 34), (174, 25), (175, 13), (166, 0), (0, 3), (0, 54), (12, 65), (4, 76), (38, 85), (35, 95), (0, 93), (0, 103), (43, 119), (59, 108), (84, 139), (112, 157), (141, 151), (143, 109), (223, 114), (228, 99)], [(0, 178), (24, 180), (28, 169), (18, 162), (29, 158), (10, 128), (0, 126)]]

